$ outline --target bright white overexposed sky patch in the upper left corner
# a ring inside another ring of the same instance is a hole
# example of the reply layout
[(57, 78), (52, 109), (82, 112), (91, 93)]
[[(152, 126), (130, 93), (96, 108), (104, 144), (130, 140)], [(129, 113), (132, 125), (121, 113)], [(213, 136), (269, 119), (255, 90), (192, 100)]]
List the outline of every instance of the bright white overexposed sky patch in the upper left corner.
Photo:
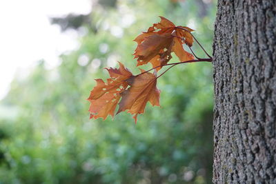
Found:
[(45, 59), (49, 68), (55, 67), (59, 54), (77, 48), (77, 33), (61, 34), (48, 17), (87, 14), (91, 8), (89, 0), (1, 0), (0, 99), (17, 71), (28, 72), (40, 59)]

